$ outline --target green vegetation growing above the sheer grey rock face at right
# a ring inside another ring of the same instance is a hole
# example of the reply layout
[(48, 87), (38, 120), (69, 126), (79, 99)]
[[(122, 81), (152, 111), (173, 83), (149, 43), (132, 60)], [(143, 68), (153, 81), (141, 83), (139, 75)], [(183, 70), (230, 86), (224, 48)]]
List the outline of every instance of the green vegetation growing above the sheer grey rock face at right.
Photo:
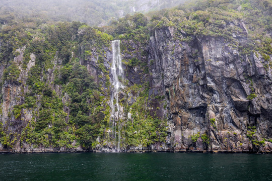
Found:
[[(193, 37), (224, 38), (229, 46), (241, 52), (250, 54), (252, 50), (259, 52), (264, 59), (272, 54), (271, 2), (268, 0), (198, 0), (186, 5), (151, 13), (150, 29), (174, 27), (178, 31), (175, 38), (190, 42)], [(245, 27), (241, 28), (242, 22)], [(182, 35), (182, 36), (181, 36)], [(247, 38), (240, 43), (237, 37)]]

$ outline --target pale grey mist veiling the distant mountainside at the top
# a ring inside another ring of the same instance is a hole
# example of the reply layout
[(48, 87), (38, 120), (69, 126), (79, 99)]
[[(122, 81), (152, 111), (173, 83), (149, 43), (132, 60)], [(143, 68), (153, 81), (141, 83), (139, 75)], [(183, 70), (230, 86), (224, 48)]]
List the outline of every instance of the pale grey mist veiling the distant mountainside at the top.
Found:
[(126, 14), (147, 13), (179, 6), (184, 2), (185, 0), (8, 0), (0, 2), (0, 12), (14, 13), (20, 17), (80, 21), (91, 26), (103, 26)]

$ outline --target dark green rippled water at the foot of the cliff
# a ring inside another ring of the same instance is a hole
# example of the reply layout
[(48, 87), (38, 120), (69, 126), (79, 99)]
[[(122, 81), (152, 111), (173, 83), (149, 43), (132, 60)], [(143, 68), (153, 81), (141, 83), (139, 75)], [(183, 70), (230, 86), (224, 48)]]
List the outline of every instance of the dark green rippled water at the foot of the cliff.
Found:
[(0, 154), (0, 180), (272, 180), (272, 155)]

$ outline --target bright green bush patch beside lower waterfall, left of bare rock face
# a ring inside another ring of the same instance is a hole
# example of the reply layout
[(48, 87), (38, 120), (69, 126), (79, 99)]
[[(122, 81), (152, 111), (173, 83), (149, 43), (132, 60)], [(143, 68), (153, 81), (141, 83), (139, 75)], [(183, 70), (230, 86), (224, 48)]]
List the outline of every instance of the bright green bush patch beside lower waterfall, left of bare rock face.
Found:
[(146, 147), (155, 142), (165, 142), (167, 121), (152, 117), (150, 111), (146, 109), (149, 94), (148, 83), (143, 85), (134, 84), (128, 88), (126, 94), (129, 93), (132, 95), (140, 93), (140, 95), (132, 105), (124, 105), (126, 111), (131, 113), (131, 120), (125, 120), (126, 126), (123, 128), (126, 144), (128, 146), (142, 145)]

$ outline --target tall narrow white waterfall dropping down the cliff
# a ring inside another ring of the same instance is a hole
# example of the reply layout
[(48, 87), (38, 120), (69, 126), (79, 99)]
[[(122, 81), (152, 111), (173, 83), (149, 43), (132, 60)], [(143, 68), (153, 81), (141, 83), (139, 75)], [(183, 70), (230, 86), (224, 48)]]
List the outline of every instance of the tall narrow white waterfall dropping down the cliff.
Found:
[[(122, 82), (124, 73), (122, 68), (122, 59), (120, 54), (120, 40), (112, 41), (112, 65), (111, 65), (111, 83), (113, 88), (111, 89), (111, 117), (110, 117), (110, 126), (112, 128), (112, 137), (116, 139), (116, 127), (117, 121), (119, 119), (119, 103), (118, 103), (118, 93), (119, 89), (123, 88)], [(115, 99), (115, 104), (114, 104)], [(115, 108), (117, 111), (115, 112)], [(120, 151), (120, 125), (118, 125), (118, 143), (117, 143), (117, 152)]]

